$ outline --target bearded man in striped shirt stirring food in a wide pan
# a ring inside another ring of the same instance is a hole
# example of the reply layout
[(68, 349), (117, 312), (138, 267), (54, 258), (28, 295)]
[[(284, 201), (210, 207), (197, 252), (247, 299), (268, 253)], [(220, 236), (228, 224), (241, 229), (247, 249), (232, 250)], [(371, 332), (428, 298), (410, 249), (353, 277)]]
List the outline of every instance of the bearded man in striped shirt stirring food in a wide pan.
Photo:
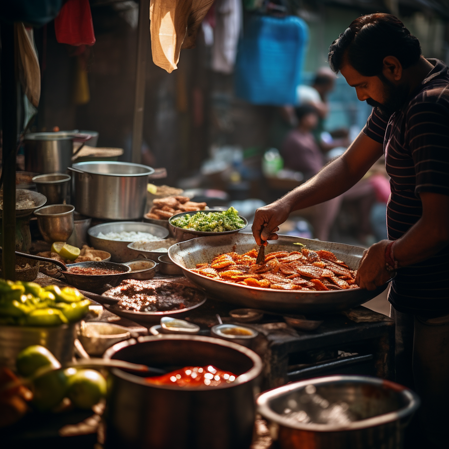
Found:
[(255, 241), (276, 239), (291, 211), (342, 194), (385, 155), (391, 177), (388, 240), (365, 251), (356, 282), (374, 290), (393, 278), (388, 300), (396, 321), (396, 381), (422, 400), (414, 441), (416, 447), (446, 447), (449, 69), (437, 59), (425, 59), (418, 39), (399, 19), (383, 13), (354, 20), (330, 46), (329, 64), (373, 111), (342, 156), (256, 211)]

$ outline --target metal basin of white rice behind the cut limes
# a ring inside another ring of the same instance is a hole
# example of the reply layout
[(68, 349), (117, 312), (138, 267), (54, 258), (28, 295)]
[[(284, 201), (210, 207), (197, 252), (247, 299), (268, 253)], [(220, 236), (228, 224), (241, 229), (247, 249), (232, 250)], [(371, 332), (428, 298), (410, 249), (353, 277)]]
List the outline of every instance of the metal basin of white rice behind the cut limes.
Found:
[(93, 226), (88, 230), (89, 240), (95, 249), (107, 251), (111, 255), (113, 262), (129, 262), (136, 258), (136, 251), (128, 248), (131, 242), (119, 242), (117, 240), (107, 240), (97, 237), (99, 233), (107, 234), (110, 232), (147, 232), (161, 239), (166, 238), (168, 229), (150, 223), (138, 223), (136, 221), (117, 221), (115, 223), (103, 223)]

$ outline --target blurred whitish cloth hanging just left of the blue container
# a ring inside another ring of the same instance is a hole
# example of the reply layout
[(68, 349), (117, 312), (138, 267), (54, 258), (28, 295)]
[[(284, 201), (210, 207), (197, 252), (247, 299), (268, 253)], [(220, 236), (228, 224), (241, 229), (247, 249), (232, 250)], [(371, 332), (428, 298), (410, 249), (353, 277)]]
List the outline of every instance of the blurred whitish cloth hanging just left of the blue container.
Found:
[(215, 10), (212, 69), (230, 74), (234, 70), (238, 39), (242, 29), (242, 2), (241, 0), (217, 0)]

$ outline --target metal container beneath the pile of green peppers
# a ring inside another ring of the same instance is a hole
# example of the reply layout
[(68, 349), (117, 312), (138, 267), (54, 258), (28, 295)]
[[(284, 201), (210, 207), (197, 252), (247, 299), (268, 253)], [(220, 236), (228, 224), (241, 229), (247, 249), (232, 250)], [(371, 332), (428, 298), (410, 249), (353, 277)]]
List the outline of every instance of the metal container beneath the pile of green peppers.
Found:
[(16, 370), (16, 358), (22, 349), (40, 344), (61, 362), (70, 362), (78, 323), (52, 327), (0, 326), (0, 366)]

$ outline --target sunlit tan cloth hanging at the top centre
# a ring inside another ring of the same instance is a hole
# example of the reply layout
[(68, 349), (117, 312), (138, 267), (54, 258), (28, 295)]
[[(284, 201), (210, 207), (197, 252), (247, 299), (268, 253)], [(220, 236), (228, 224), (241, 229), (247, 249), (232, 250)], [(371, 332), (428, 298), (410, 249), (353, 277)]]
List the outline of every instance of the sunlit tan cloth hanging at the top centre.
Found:
[(151, 0), (151, 53), (156, 66), (172, 73), (181, 48), (195, 46), (198, 28), (214, 0)]

